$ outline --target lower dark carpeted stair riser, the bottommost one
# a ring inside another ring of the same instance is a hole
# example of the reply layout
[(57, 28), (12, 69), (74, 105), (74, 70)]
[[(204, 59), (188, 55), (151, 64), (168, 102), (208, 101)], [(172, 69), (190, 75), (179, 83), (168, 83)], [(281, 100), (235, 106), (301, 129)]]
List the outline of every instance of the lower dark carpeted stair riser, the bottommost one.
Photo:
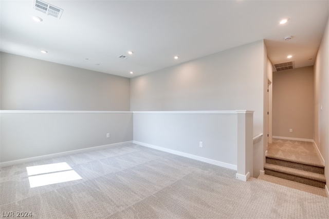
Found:
[(295, 176), (295, 175), (291, 175), (291, 174), (287, 174), (287, 173), (282, 173), (282, 172), (278, 172), (278, 171), (268, 170), (268, 169), (264, 169), (264, 170), (265, 170), (265, 174), (267, 174), (267, 175), (287, 179), (290, 181), (300, 182), (305, 185), (315, 186), (315, 187), (322, 188), (322, 189), (324, 189), (324, 186), (325, 186), (325, 182), (322, 182), (322, 181), (317, 181), (314, 179), (308, 179), (308, 178)]

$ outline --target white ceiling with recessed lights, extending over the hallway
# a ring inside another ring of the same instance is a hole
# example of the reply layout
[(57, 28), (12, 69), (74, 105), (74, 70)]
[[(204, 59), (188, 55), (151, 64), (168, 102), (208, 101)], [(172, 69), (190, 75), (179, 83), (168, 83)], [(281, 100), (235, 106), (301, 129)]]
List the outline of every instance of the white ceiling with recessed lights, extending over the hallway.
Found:
[(33, 0), (0, 0), (1, 51), (128, 78), (262, 39), (273, 64), (310, 66), (329, 14), (329, 0), (44, 1), (64, 10), (61, 19)]

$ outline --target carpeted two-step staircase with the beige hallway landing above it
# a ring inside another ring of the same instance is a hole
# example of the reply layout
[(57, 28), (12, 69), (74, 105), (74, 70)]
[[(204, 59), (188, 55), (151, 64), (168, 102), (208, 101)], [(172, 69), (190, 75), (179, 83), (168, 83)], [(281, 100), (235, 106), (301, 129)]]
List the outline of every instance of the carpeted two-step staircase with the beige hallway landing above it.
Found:
[[(324, 166), (312, 142), (273, 139), (268, 144), (265, 176), (324, 189)], [(263, 177), (264, 178), (264, 177)]]

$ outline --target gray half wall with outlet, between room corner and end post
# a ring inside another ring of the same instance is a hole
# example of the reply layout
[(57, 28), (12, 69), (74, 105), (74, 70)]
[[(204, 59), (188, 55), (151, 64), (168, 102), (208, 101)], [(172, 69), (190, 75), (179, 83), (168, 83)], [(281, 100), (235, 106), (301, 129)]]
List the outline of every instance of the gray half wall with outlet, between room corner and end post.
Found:
[(236, 138), (236, 112), (134, 113), (134, 141), (210, 159), (214, 161), (210, 163), (234, 170)]

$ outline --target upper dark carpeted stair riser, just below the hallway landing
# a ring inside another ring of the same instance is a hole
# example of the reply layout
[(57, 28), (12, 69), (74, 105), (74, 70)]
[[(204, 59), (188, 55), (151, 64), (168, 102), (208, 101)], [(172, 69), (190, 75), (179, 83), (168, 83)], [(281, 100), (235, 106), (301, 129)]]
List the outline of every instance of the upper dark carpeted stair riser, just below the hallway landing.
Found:
[(290, 162), (286, 160), (279, 160), (274, 158), (266, 157), (266, 162), (271, 163), (273, 165), (278, 165), (282, 167), (288, 167), (288, 168), (294, 168), (297, 170), (304, 170), (312, 173), (318, 173), (318, 174), (324, 174), (324, 168), (323, 167), (316, 167), (312, 165), (305, 165), (303, 163), (295, 163)]

